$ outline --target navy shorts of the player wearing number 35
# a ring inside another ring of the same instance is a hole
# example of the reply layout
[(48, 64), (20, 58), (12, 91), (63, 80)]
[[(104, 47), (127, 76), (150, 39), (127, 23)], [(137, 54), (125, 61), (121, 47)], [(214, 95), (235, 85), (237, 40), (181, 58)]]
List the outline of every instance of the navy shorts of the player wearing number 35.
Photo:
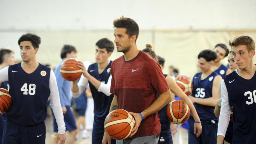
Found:
[[(213, 123), (215, 122), (215, 123)], [(195, 120), (192, 116), (188, 119), (188, 143), (189, 144), (216, 144), (217, 143), (217, 131), (218, 121), (201, 120), (202, 133), (197, 138), (194, 133)]]

